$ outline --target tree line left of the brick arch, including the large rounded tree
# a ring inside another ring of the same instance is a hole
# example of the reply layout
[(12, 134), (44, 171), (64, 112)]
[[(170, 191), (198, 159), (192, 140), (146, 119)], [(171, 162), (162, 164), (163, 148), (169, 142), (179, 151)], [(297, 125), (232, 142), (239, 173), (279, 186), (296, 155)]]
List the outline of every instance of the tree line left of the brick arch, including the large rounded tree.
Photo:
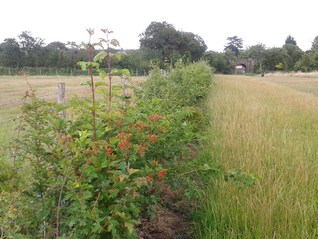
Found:
[[(161, 68), (173, 65), (178, 59), (186, 62), (202, 58), (207, 46), (203, 39), (190, 32), (177, 31), (166, 22), (152, 22), (140, 34), (140, 48), (110, 49), (114, 68), (148, 72), (151, 65)], [(98, 51), (98, 50), (96, 50)], [(96, 52), (95, 52), (96, 53)], [(87, 52), (76, 42), (51, 42), (23, 31), (17, 38), (7, 38), (0, 43), (0, 67), (48, 67), (76, 69), (77, 62), (87, 60)], [(107, 67), (106, 63), (101, 67)]]

